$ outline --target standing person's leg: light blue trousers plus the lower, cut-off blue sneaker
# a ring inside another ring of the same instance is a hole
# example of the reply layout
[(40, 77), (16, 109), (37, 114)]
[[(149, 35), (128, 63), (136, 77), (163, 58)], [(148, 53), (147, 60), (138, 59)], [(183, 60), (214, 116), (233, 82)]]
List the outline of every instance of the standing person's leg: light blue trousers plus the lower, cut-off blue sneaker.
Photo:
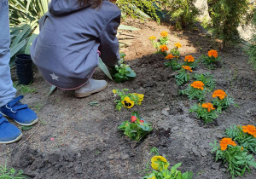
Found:
[[(9, 6), (8, 0), (0, 0), (0, 107), (15, 98), (16, 90), (9, 69)], [(0, 143), (11, 143), (20, 140), (21, 131), (9, 124), (0, 113)]]

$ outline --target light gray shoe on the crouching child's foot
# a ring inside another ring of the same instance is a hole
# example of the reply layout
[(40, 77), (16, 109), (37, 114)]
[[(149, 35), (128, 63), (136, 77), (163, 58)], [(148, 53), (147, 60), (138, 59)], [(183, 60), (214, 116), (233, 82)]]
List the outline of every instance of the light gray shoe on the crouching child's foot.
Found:
[(106, 89), (107, 86), (108, 83), (105, 80), (95, 80), (90, 78), (87, 84), (84, 84), (84, 86), (82, 86), (78, 90), (75, 90), (75, 96), (86, 97), (93, 93)]

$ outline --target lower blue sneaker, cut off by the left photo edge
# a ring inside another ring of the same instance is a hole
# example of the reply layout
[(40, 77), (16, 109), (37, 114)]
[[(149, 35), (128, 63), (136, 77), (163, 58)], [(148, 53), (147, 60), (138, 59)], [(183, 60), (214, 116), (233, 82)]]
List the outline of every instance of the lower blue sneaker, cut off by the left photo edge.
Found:
[(0, 113), (0, 143), (12, 143), (19, 141), (21, 131), (13, 124), (9, 124), (6, 118)]

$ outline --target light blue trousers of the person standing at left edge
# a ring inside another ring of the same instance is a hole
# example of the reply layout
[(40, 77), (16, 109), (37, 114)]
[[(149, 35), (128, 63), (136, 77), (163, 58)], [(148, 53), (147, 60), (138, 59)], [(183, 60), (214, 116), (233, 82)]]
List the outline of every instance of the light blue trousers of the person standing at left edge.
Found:
[(15, 98), (16, 93), (10, 76), (9, 44), (9, 3), (8, 0), (0, 0), (0, 107)]

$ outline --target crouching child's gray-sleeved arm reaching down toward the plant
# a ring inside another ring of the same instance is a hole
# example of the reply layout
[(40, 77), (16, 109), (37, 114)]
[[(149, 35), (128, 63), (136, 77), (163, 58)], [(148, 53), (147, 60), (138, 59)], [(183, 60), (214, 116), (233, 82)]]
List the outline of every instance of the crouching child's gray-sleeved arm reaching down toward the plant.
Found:
[(120, 24), (120, 16), (120, 11), (114, 14), (99, 36), (101, 58), (109, 67), (113, 67), (120, 59), (119, 40), (116, 37), (117, 29)]

